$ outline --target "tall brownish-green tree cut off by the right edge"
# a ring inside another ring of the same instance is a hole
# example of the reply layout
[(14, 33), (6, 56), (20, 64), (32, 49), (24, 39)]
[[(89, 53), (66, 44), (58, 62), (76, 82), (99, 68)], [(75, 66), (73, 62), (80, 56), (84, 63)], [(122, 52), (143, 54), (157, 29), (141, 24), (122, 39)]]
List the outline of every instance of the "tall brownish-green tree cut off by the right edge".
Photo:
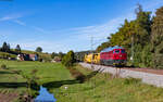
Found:
[(155, 68), (163, 68), (163, 7), (156, 10), (152, 24), (152, 59)]

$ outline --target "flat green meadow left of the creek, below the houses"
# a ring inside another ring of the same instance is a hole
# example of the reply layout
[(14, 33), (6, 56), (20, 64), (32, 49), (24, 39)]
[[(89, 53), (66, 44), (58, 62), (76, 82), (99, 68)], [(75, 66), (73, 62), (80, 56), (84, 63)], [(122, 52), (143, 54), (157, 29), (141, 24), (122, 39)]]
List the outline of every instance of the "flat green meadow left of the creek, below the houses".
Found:
[[(39, 79), (36, 81), (39, 85), (73, 79), (68, 71), (60, 63), (0, 60), (0, 65), (2, 64), (7, 65), (7, 69), (0, 68), (0, 94), (8, 95), (14, 92), (18, 95), (21, 93), (27, 92), (27, 79), (22, 77), (22, 75), (32, 77), (32, 72), (34, 69), (37, 69), (36, 76)], [(17, 74), (17, 71), (22, 71), (22, 73)], [(16, 97), (15, 100), (18, 97)]]

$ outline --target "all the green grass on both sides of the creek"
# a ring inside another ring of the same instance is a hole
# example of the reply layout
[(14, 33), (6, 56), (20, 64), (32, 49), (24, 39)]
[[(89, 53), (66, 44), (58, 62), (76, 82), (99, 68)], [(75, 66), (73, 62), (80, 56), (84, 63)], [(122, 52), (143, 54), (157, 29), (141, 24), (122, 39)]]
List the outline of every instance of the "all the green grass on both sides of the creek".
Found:
[[(110, 74), (99, 74), (76, 65), (74, 68), (86, 78), (79, 82), (60, 63), (0, 60), (0, 65), (2, 64), (8, 68), (0, 68), (0, 100), (13, 97), (17, 102), (18, 95), (27, 92), (27, 79), (22, 75), (32, 77), (32, 72), (37, 69), (36, 76), (39, 79), (36, 81), (54, 93), (57, 102), (163, 102), (162, 88), (141, 84), (139, 79), (114, 78)], [(17, 71), (22, 73), (18, 75), (15, 73)], [(14, 102), (11, 100), (8, 102)]]

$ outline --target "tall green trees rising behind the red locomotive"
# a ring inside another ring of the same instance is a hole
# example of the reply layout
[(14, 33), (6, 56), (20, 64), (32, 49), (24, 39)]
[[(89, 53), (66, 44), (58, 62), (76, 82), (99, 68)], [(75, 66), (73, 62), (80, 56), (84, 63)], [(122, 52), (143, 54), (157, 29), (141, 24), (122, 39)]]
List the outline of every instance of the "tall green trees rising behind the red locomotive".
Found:
[[(140, 67), (163, 68), (163, 7), (155, 15), (143, 11), (140, 4), (135, 10), (136, 20), (125, 20), (118, 30), (108, 37), (108, 41), (97, 48), (122, 46), (128, 54), (128, 63)], [(133, 56), (133, 60), (129, 59)]]

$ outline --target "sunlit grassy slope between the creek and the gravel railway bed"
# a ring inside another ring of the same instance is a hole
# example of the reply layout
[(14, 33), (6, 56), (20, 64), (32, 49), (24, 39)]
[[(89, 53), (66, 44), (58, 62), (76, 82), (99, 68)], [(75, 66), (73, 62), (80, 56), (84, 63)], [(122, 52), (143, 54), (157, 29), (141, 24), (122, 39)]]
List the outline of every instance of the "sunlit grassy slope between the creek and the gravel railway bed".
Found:
[(87, 80), (58, 89), (51, 88), (57, 102), (163, 102), (162, 88), (142, 84), (139, 79), (113, 78), (109, 74), (99, 74), (82, 66), (75, 68)]

